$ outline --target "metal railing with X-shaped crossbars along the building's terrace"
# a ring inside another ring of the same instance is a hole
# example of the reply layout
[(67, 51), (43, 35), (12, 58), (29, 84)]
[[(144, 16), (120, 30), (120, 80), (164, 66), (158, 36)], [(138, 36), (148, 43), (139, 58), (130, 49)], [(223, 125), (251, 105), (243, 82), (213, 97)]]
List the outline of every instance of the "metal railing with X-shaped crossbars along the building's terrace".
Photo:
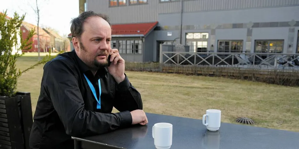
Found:
[(299, 54), (160, 51), (164, 65), (299, 70)]

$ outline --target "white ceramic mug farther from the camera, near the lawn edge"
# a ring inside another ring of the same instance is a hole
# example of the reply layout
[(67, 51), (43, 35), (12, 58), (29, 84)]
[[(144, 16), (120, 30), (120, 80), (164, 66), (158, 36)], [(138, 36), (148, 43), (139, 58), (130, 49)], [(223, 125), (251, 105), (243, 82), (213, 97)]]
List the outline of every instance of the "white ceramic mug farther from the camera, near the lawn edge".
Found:
[[(206, 118), (206, 122), (204, 119)], [(210, 131), (217, 131), (221, 123), (221, 111), (217, 109), (208, 109), (206, 114), (203, 115), (203, 124), (207, 126)]]

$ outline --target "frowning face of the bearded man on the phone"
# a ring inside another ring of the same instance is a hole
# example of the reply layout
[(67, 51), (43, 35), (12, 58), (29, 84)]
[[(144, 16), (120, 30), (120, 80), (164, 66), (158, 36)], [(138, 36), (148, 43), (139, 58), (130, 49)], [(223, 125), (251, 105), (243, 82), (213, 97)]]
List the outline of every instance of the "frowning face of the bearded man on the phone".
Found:
[(78, 39), (78, 56), (92, 68), (106, 67), (111, 50), (111, 27), (104, 19), (94, 16), (86, 19)]

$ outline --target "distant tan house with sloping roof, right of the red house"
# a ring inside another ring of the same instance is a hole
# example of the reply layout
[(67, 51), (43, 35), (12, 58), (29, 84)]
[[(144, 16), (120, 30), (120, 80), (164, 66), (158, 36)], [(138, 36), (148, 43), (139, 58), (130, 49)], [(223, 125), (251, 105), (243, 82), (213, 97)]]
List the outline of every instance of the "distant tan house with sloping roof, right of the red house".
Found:
[(50, 48), (54, 51), (61, 51), (65, 49), (63, 38), (54, 30), (43, 28), (51, 36)]

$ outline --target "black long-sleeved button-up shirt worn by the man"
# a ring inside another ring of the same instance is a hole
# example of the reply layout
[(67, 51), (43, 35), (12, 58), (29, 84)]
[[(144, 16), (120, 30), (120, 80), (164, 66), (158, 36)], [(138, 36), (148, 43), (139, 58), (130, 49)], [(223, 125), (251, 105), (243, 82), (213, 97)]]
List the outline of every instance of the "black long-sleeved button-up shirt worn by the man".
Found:
[[(84, 76), (92, 82), (101, 109)], [(120, 113), (111, 113), (113, 106)], [(130, 111), (142, 109), (139, 92), (127, 76), (117, 84), (107, 68), (95, 75), (76, 52), (59, 54), (44, 66), (41, 91), (34, 113), (30, 146), (34, 149), (74, 148), (71, 136), (84, 137), (130, 126)]]

